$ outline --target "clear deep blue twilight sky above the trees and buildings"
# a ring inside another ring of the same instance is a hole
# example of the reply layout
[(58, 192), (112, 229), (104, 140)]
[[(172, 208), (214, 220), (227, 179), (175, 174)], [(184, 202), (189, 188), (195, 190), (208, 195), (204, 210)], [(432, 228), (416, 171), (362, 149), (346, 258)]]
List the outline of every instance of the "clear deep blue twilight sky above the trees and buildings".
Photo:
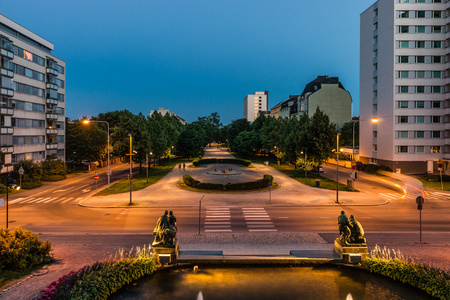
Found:
[(66, 61), (66, 116), (164, 107), (188, 122), (243, 117), (317, 75), (338, 76), (359, 115), (359, 16), (375, 0), (1, 0), (0, 13)]

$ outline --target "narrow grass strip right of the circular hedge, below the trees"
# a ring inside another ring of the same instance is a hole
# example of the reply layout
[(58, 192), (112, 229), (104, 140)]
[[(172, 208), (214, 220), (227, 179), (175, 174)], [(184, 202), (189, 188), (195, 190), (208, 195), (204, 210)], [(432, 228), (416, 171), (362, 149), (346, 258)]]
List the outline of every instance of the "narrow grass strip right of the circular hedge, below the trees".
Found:
[[(316, 179), (320, 179), (320, 188), (327, 189), (327, 190), (336, 190), (336, 181), (325, 178), (325, 177), (318, 177), (316, 172), (307, 172), (307, 177), (305, 180), (305, 170), (303, 169), (295, 169), (293, 165), (281, 165), (280, 167), (277, 167), (276, 165), (273, 165), (275, 169), (278, 171), (286, 174), (287, 176), (297, 180), (298, 182), (301, 182), (303, 184), (315, 187), (316, 186)], [(339, 183), (339, 190), (340, 191), (351, 191), (351, 192), (359, 192), (358, 190), (349, 190), (347, 189), (347, 185), (343, 183)]]

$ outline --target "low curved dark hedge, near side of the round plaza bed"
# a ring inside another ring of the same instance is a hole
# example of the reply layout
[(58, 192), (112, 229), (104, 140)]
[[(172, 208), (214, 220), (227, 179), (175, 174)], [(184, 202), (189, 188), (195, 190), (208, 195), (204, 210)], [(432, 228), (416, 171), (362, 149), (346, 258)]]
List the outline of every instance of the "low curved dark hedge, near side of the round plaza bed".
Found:
[(203, 183), (195, 180), (190, 175), (183, 175), (183, 182), (189, 187), (193, 187), (201, 190), (217, 190), (217, 191), (248, 191), (257, 190), (269, 186), (269, 183), (273, 182), (272, 175), (264, 175), (263, 179), (249, 182), (229, 183), (226, 185), (220, 183)]

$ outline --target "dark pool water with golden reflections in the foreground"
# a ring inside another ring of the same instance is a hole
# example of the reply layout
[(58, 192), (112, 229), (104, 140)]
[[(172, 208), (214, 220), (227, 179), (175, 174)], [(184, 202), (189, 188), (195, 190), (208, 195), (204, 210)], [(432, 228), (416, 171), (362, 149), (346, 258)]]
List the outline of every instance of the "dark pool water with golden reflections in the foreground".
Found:
[[(199, 291), (201, 291), (199, 293)], [(432, 299), (361, 270), (328, 266), (161, 270), (111, 299)]]

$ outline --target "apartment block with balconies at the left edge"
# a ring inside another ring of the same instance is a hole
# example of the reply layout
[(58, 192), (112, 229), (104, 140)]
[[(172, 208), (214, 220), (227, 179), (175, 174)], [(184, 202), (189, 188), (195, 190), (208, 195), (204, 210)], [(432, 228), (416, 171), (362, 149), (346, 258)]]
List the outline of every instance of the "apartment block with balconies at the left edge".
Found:
[(53, 49), (0, 14), (0, 173), (26, 159), (65, 160), (65, 62)]

